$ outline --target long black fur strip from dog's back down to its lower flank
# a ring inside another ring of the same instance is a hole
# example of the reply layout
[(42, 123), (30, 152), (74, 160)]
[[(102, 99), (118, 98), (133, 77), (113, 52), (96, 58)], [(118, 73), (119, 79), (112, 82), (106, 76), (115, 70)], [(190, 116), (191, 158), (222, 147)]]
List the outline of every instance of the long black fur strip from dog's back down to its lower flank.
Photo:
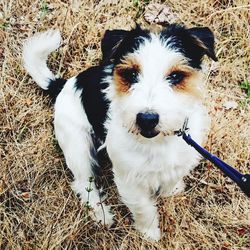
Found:
[(93, 146), (90, 148), (90, 154), (95, 161), (92, 162), (91, 169), (98, 189), (103, 186), (103, 171), (109, 162), (107, 154), (103, 150), (98, 151), (106, 137), (104, 122), (107, 118), (109, 101), (102, 92), (108, 87), (108, 83), (103, 81), (106, 76), (104, 67), (95, 66), (80, 73), (76, 80), (76, 89), (81, 91), (81, 102), (93, 129), (91, 132)]

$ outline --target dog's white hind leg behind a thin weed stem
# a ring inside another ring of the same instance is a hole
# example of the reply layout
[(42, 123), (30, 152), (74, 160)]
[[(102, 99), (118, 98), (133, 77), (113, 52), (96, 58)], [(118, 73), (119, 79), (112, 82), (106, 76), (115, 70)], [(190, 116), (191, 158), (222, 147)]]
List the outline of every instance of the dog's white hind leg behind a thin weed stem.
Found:
[[(76, 78), (69, 79), (55, 103), (55, 134), (63, 150), (68, 168), (74, 175), (72, 189), (80, 195), (83, 204), (90, 206), (90, 215), (96, 221), (111, 225), (109, 208), (101, 203), (93, 178), (92, 127), (81, 104), (81, 91), (75, 88)], [(92, 210), (92, 211), (91, 211)]]

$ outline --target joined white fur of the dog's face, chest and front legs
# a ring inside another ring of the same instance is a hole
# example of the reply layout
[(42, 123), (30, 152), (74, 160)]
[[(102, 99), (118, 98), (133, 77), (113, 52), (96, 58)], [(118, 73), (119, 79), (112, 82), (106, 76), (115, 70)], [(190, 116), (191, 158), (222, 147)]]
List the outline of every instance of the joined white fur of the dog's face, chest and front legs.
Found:
[[(106, 146), (118, 191), (133, 213), (135, 227), (158, 240), (160, 231), (154, 194), (158, 190), (162, 196), (181, 191), (182, 178), (200, 159), (193, 148), (173, 133), (188, 117), (190, 133), (201, 143), (209, 119), (198, 98), (177, 93), (165, 78), (172, 66), (186, 63), (178, 51), (166, 49), (159, 37), (152, 35), (152, 40), (142, 43), (133, 56), (141, 67), (138, 83), (128, 94), (117, 94), (115, 83), (106, 91), (111, 101)], [(202, 81), (199, 84), (202, 86)], [(130, 133), (131, 127), (136, 126), (136, 115), (147, 110), (157, 112), (160, 116), (158, 129), (172, 135), (160, 133), (147, 139)]]

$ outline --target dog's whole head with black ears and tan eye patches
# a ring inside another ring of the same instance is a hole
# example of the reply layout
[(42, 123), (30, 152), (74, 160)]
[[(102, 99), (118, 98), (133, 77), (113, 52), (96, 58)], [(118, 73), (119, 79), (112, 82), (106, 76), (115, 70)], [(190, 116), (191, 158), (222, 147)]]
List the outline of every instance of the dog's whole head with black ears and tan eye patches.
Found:
[(112, 118), (134, 136), (153, 138), (178, 130), (202, 96), (202, 57), (216, 60), (208, 28), (171, 25), (160, 33), (139, 26), (106, 32)]

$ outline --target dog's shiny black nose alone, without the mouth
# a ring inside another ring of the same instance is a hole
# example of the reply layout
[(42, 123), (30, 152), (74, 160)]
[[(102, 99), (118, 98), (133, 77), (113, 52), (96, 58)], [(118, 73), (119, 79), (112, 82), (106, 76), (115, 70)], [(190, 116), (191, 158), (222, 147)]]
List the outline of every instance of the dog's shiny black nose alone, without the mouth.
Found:
[(139, 113), (136, 117), (136, 123), (142, 130), (152, 130), (159, 123), (157, 113)]

